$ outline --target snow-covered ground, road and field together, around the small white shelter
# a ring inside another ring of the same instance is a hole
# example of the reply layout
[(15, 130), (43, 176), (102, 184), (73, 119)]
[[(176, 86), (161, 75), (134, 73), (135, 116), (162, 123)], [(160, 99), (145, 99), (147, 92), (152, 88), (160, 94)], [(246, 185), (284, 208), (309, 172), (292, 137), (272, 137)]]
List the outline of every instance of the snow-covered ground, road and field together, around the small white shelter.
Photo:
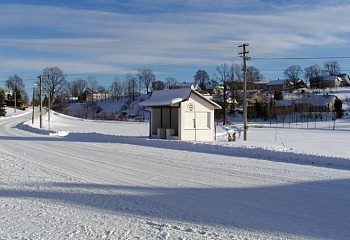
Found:
[(203, 143), (62, 114), (40, 130), (11, 111), (0, 239), (350, 239), (350, 120)]

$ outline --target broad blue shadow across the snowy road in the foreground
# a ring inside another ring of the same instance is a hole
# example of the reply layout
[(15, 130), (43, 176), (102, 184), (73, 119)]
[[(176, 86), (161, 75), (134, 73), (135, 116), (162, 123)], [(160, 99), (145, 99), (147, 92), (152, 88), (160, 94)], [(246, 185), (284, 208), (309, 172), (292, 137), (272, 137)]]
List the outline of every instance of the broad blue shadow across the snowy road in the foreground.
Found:
[(255, 188), (152, 188), (61, 182), (47, 186), (52, 190), (2, 189), (0, 197), (51, 199), (112, 214), (276, 234), (350, 238), (350, 179)]

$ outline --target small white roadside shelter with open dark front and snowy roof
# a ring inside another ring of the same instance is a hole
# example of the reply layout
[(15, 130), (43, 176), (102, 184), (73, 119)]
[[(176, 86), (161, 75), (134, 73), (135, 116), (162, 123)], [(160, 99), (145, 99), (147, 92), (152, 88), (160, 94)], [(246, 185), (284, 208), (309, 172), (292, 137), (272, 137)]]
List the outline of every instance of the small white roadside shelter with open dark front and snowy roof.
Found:
[(151, 108), (150, 137), (214, 140), (214, 110), (221, 107), (195, 90), (180, 88), (155, 91), (139, 105)]

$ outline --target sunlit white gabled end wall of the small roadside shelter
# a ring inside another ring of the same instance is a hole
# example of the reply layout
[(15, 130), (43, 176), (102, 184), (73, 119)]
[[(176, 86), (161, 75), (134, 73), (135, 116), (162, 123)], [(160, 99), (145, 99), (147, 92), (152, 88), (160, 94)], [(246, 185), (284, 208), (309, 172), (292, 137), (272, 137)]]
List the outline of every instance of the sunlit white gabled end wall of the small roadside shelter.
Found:
[[(192, 111), (190, 105), (193, 104)], [(179, 137), (182, 140), (214, 140), (214, 106), (195, 94), (181, 103)]]

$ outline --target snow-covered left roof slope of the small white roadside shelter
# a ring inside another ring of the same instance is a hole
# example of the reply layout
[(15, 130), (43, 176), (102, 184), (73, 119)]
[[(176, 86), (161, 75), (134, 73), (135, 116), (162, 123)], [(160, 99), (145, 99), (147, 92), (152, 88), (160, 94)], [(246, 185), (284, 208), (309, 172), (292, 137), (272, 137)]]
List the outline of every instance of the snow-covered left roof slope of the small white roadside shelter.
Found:
[(139, 103), (140, 107), (173, 106), (190, 97), (190, 88), (154, 91), (152, 96)]

